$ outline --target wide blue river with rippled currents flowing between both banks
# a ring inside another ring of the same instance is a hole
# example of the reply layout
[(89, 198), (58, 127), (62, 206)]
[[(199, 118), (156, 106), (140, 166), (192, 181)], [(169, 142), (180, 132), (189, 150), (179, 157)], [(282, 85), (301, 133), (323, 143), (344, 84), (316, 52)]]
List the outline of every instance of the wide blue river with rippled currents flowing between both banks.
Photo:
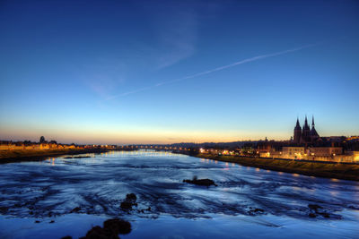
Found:
[[(132, 225), (121, 238), (359, 238), (358, 182), (166, 152), (89, 156), (0, 165), (0, 238), (78, 238), (115, 217)], [(194, 175), (217, 186), (182, 182)], [(137, 206), (120, 209), (131, 192)]]

